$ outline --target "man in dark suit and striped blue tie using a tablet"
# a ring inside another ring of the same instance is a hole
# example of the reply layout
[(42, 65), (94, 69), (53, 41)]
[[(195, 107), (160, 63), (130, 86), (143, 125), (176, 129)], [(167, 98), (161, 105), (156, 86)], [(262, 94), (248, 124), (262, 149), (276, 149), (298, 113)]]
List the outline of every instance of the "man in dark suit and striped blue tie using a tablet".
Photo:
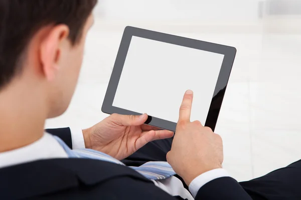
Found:
[[(300, 161), (248, 182), (229, 177), (220, 136), (190, 122), (191, 90), (174, 138), (143, 125), (146, 114), (44, 133), (70, 103), (95, 4), (0, 0), (0, 199), (301, 199)], [(177, 174), (148, 162), (166, 160)]]

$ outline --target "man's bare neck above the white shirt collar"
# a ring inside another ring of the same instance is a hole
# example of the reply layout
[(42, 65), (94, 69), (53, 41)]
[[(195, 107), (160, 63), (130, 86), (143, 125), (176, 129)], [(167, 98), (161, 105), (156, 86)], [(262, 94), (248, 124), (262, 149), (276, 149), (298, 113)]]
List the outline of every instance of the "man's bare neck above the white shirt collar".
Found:
[(0, 91), (0, 152), (26, 146), (43, 136), (45, 106), (37, 92), (26, 87), (16, 83)]

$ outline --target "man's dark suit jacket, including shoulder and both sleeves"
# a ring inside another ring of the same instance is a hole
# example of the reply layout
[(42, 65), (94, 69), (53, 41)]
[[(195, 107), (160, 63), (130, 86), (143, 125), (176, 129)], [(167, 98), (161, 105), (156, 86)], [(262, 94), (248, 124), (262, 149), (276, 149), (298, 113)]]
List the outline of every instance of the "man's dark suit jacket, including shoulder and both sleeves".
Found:
[[(48, 131), (72, 146), (69, 128)], [(0, 199), (181, 199), (129, 167), (93, 159), (38, 160), (2, 168), (0, 177)], [(196, 199), (251, 197), (235, 179), (222, 177), (201, 187)]]

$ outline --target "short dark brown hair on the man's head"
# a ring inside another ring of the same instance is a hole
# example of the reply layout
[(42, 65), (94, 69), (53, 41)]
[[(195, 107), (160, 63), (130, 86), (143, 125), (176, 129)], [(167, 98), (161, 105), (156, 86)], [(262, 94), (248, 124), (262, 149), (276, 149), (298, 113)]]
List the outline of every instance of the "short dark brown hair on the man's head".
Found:
[(43, 26), (66, 24), (73, 45), (97, 0), (0, 0), (0, 89), (22, 70), (21, 57)]

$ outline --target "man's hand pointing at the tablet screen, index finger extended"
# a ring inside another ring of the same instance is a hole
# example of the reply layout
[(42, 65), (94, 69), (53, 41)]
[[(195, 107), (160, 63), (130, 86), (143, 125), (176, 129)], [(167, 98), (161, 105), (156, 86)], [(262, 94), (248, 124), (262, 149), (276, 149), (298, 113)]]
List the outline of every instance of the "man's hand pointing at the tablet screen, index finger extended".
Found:
[(222, 168), (223, 142), (220, 135), (200, 121), (190, 121), (193, 92), (187, 90), (180, 108), (172, 149), (167, 154), (171, 164), (187, 185), (209, 170)]

